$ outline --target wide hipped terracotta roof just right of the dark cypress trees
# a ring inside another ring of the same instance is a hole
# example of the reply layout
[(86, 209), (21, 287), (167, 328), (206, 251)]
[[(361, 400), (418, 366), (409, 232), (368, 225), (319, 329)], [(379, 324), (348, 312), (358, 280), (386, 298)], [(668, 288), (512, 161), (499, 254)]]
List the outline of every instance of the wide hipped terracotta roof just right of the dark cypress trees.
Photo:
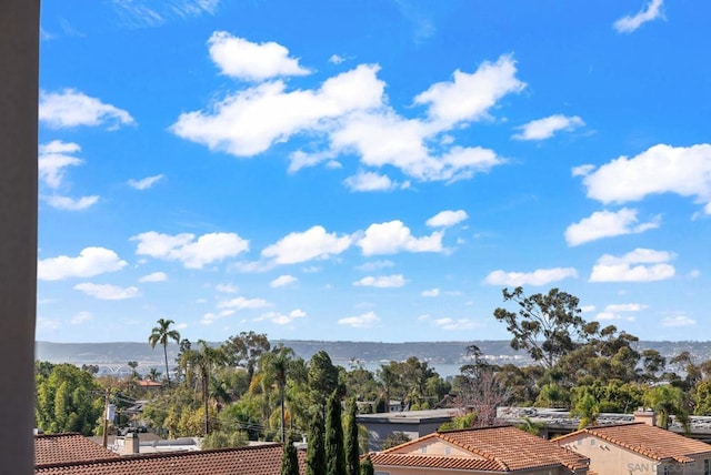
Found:
[[(443, 441), (472, 454), (472, 457), (408, 453), (409, 446), (428, 439)], [(564, 466), (571, 471), (588, 468), (590, 461), (512, 426), (468, 428), (425, 435), (381, 453), (371, 454), (378, 465), (419, 466), (451, 469), (509, 472)]]

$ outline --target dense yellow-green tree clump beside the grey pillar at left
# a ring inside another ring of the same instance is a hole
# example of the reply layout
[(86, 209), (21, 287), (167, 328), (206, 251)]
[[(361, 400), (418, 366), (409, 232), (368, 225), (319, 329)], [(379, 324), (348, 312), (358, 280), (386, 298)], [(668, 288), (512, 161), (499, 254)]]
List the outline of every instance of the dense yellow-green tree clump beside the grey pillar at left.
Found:
[(103, 392), (92, 375), (72, 364), (37, 366), (37, 427), (92, 435), (104, 407)]

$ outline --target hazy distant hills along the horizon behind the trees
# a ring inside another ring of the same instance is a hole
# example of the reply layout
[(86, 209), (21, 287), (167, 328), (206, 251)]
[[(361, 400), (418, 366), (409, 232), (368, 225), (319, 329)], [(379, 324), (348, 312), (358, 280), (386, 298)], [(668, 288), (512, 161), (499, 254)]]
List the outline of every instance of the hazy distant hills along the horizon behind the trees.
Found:
[[(524, 365), (530, 363), (528, 354), (511, 348), (508, 340), (484, 340), (471, 342), (326, 342), (278, 340), (272, 345), (283, 344), (293, 348), (298, 356), (304, 360), (323, 350), (334, 364), (349, 367), (351, 363), (363, 364), (370, 370), (390, 361), (404, 361), (417, 356), (427, 361), (442, 376), (458, 374), (459, 366), (467, 363), (467, 347), (477, 345), (492, 363), (514, 363)], [(217, 344), (217, 343), (216, 343)], [(671, 357), (688, 351), (697, 362), (711, 358), (711, 342), (639, 342), (638, 350), (652, 348), (662, 355)], [(52, 363), (73, 363), (77, 365), (99, 365), (102, 373), (128, 372), (127, 363), (137, 361), (139, 371), (148, 372), (150, 367), (161, 368), (163, 353), (159, 346), (152, 348), (148, 343), (116, 342), (116, 343), (36, 343), (36, 357)], [(178, 345), (168, 345), (169, 363), (174, 362)]]

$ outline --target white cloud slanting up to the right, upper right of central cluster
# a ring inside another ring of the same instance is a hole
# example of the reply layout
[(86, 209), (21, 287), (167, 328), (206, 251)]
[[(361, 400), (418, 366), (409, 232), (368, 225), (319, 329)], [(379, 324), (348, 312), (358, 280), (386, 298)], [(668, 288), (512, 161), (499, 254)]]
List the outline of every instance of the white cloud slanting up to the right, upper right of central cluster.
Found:
[(469, 74), (454, 71), (452, 82), (438, 82), (414, 98), (429, 104), (430, 118), (443, 128), (462, 121), (487, 119), (489, 110), (504, 95), (521, 92), (525, 83), (515, 78), (515, 61), (502, 55), (495, 63), (484, 61)]

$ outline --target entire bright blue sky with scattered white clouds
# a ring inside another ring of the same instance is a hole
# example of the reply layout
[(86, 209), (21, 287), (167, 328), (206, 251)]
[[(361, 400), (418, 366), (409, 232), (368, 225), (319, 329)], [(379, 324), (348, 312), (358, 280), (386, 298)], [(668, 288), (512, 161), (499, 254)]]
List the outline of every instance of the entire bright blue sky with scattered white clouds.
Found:
[(708, 340), (711, 4), (44, 0), (37, 337)]

